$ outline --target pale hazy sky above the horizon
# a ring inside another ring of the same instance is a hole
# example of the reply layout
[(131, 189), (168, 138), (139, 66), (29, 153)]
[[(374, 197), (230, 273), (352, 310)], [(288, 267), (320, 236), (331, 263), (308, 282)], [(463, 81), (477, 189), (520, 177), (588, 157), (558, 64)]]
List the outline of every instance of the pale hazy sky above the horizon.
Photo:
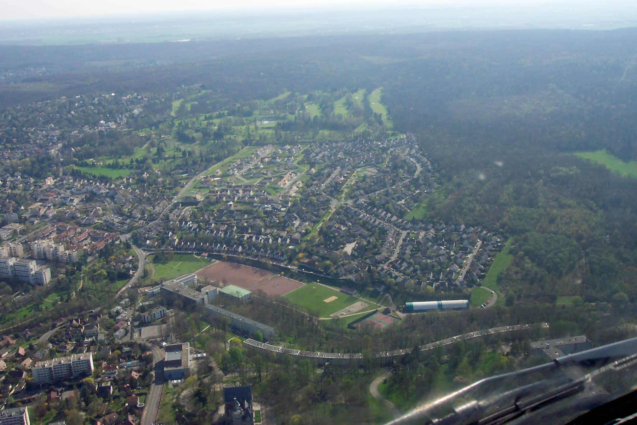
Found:
[[(613, 3), (627, 0), (610, 0)], [(536, 6), (555, 3), (605, 3), (602, 0), (3, 0), (0, 20), (56, 20), (59, 18), (106, 17), (140, 13), (189, 11), (246, 11), (286, 9), (394, 8), (396, 6)]]

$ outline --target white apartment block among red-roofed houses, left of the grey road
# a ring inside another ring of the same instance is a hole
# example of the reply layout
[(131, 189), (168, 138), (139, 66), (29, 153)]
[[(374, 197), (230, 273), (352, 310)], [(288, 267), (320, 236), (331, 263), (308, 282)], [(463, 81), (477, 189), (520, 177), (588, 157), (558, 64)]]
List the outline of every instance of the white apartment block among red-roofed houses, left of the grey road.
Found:
[(61, 379), (91, 375), (93, 370), (93, 354), (88, 352), (39, 361), (31, 368), (31, 374), (36, 384), (50, 384)]

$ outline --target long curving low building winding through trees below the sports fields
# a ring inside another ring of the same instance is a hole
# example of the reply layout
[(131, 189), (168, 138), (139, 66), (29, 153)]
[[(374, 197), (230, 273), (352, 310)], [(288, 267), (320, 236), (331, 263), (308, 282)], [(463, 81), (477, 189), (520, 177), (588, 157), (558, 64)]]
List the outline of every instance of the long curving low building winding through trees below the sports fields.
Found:
[[(533, 329), (535, 327), (538, 328), (548, 328), (547, 323), (540, 323), (537, 325), (533, 324), (523, 324), (523, 325), (513, 325), (513, 326), (501, 326), (499, 328), (491, 328), (491, 329), (483, 329), (482, 331), (475, 331), (470, 333), (465, 333), (462, 335), (452, 336), (445, 340), (440, 340), (436, 342), (431, 342), (425, 345), (420, 345), (420, 351), (432, 350), (437, 347), (439, 344), (441, 345), (449, 345), (458, 341), (470, 340), (471, 338), (478, 338), (480, 336), (489, 336), (495, 335), (499, 333), (512, 332), (512, 331), (526, 331), (529, 329)], [(275, 356), (293, 356), (299, 359), (316, 359), (318, 363), (348, 363), (350, 361), (361, 360), (363, 358), (362, 353), (328, 353), (328, 352), (317, 352), (317, 351), (304, 351), (304, 350), (293, 350), (286, 349), (283, 347), (278, 347), (277, 345), (270, 345), (264, 342), (258, 342), (255, 340), (247, 339), (243, 342), (248, 349), (253, 349), (256, 351), (269, 351)], [(403, 357), (404, 355), (412, 352), (412, 349), (400, 349), (400, 350), (392, 350), (392, 351), (380, 351), (371, 354), (371, 357), (375, 359), (380, 359), (381, 361), (391, 361), (392, 359), (396, 359), (399, 357)]]

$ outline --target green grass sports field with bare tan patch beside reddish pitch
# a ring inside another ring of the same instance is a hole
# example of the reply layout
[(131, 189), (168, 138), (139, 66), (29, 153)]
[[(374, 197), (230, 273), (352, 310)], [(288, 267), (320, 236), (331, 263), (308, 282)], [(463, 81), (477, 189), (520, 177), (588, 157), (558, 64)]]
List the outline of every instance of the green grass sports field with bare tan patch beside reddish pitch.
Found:
[[(324, 299), (335, 296), (336, 299), (326, 303)], [(320, 317), (329, 317), (331, 313), (359, 301), (358, 298), (324, 285), (308, 284), (283, 296), (292, 304), (317, 312)], [(347, 326), (347, 323), (345, 324)]]

